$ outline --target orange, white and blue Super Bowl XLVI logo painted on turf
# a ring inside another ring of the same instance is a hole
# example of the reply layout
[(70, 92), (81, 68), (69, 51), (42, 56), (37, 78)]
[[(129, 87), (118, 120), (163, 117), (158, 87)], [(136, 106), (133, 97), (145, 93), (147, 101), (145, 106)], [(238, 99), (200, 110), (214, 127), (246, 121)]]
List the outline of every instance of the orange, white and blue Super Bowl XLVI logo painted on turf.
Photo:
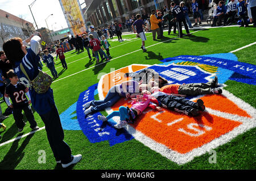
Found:
[[(195, 102), (199, 98), (204, 101), (206, 110), (197, 117), (165, 108), (162, 112), (147, 108), (135, 124), (129, 124), (125, 129), (115, 129), (113, 125), (119, 121), (119, 117), (102, 122), (97, 119), (100, 112), (84, 116), (86, 102), (93, 100), (97, 94), (104, 99), (111, 86), (130, 79), (123, 76), (125, 73), (144, 68), (154, 69), (169, 83), (205, 83), (217, 75), (221, 87), (226, 86), (224, 83), (228, 79), (255, 85), (255, 66), (238, 62), (232, 53), (177, 56), (166, 58), (159, 65), (133, 64), (102, 75), (96, 85), (82, 92), (77, 103), (60, 115), (63, 128), (81, 129), (90, 142), (108, 140), (110, 146), (135, 138), (180, 165), (256, 127), (255, 109), (226, 90), (221, 95), (187, 97)], [(118, 110), (119, 106), (130, 107), (131, 100), (122, 98), (106, 112), (109, 114)], [(72, 119), (75, 116), (77, 119)]]

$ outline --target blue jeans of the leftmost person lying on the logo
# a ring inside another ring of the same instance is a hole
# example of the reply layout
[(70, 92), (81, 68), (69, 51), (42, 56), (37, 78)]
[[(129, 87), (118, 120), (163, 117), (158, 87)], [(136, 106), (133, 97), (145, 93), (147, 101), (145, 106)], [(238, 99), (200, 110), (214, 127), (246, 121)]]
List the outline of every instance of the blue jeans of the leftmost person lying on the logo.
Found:
[(108, 94), (106, 95), (104, 100), (93, 100), (90, 104), (92, 107), (92, 112), (97, 112), (101, 110), (105, 110), (105, 108), (113, 106), (119, 99), (122, 98), (121, 95), (116, 91), (116, 87), (120, 85), (115, 85), (110, 88)]

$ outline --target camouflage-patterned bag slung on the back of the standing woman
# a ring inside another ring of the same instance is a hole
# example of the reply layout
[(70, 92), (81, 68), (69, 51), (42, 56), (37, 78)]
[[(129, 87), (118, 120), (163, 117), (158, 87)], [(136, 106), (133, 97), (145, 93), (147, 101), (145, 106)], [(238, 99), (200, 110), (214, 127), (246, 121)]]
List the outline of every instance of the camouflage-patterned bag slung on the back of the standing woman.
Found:
[(36, 78), (34, 78), (34, 80), (31, 81), (22, 63), (20, 63), (20, 69), (26, 75), (26, 77), (28, 78), (28, 81), (30, 82), (30, 85), (35, 89), (36, 93), (44, 94), (46, 91), (48, 91), (49, 87), (52, 84), (52, 77), (50, 75), (38, 69), (39, 70), (38, 76), (36, 76)]

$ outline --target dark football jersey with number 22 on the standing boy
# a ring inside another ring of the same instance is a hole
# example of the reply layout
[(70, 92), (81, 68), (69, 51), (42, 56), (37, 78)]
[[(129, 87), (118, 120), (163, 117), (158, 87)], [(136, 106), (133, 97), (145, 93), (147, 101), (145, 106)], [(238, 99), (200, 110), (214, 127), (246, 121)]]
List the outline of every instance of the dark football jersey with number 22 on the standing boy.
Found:
[(5, 97), (11, 98), (14, 108), (19, 108), (28, 104), (27, 91), (28, 87), (22, 82), (18, 82), (15, 86), (10, 83), (5, 89)]

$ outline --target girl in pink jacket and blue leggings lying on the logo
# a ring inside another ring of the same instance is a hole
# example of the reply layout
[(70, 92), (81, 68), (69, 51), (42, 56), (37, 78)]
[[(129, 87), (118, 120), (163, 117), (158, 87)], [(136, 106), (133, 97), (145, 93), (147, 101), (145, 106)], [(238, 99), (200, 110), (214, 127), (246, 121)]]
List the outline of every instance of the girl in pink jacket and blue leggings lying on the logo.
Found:
[(151, 107), (158, 111), (162, 111), (162, 108), (158, 107), (158, 101), (151, 96), (151, 93), (147, 90), (142, 91), (142, 95), (137, 95), (131, 103), (131, 108), (120, 106), (119, 111), (113, 111), (108, 116), (98, 115), (98, 119), (102, 121), (107, 121), (114, 116), (120, 117), (120, 122), (115, 124), (115, 128), (123, 128), (127, 123), (134, 123), (135, 118), (138, 117), (147, 107)]

